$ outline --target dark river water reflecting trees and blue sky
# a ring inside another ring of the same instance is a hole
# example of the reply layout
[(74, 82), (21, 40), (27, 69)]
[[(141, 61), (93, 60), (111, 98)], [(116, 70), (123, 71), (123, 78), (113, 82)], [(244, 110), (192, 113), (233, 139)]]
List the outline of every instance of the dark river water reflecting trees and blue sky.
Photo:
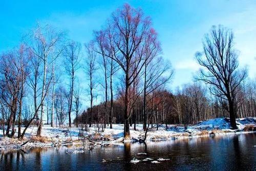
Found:
[[(254, 145), (256, 134), (233, 134), (124, 143), (79, 154), (67, 154), (65, 147), (9, 150), (0, 151), (0, 170), (255, 170)], [(139, 163), (131, 163), (133, 158)]]

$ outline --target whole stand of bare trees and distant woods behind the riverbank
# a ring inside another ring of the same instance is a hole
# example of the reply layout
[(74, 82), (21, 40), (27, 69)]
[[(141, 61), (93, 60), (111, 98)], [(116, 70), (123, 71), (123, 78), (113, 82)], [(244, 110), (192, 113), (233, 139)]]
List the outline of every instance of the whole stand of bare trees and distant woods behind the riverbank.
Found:
[(20, 35), (18, 47), (0, 54), (3, 136), (23, 139), (35, 126), (40, 137), (46, 124), (104, 131), (122, 123), (131, 139), (136, 124), (147, 131), (226, 117), (236, 130), (236, 118), (256, 117), (255, 78), (239, 65), (231, 28), (209, 29), (194, 56), (200, 70), (172, 90), (172, 56), (162, 57), (157, 30), (142, 9), (124, 4), (85, 44), (38, 23)]

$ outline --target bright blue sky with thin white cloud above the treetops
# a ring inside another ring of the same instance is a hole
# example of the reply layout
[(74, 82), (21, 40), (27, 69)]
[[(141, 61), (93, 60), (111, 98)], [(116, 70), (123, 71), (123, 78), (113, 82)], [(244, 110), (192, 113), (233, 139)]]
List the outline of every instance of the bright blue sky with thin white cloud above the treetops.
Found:
[(111, 13), (125, 2), (151, 16), (163, 57), (172, 62), (172, 89), (190, 82), (199, 66), (195, 53), (212, 25), (234, 32), (240, 65), (256, 77), (256, 1), (11, 1), (0, 0), (0, 52), (17, 46), (37, 22), (68, 30), (71, 39), (88, 42)]

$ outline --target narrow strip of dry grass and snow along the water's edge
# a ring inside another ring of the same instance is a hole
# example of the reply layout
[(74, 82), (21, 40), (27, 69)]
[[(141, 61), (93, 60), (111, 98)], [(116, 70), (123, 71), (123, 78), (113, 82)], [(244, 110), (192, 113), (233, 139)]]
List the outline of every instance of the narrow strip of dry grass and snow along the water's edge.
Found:
[[(206, 131), (206, 130), (202, 130), (202, 131)], [(157, 131), (155, 131), (157, 132)], [(210, 133), (212, 131), (207, 131), (209, 134), (208, 135), (189, 135), (189, 136), (185, 136), (183, 134), (185, 134), (186, 132), (181, 132), (181, 133), (177, 133), (176, 136), (174, 135), (170, 135), (169, 137), (166, 138), (156, 138), (156, 137), (151, 137), (151, 139), (146, 139), (145, 143), (147, 142), (161, 142), (161, 141), (172, 141), (172, 140), (184, 140), (184, 139), (195, 139), (195, 138), (202, 138), (202, 137), (221, 137), (224, 135), (232, 135), (232, 134), (253, 134), (256, 133), (256, 131), (238, 131), (238, 130), (219, 130), (219, 132), (215, 133), (213, 136), (210, 135)], [(149, 132), (150, 133), (150, 132)], [(104, 135), (102, 135), (104, 137)], [(28, 138), (28, 137), (26, 137)], [(42, 139), (46, 138), (49, 139), (49, 137), (41, 137)], [(18, 143), (13, 143), (13, 144), (3, 144), (3, 140), (5, 141), (5, 139), (8, 140), (16, 140), (16, 142)], [(51, 138), (52, 139), (52, 138)], [(101, 147), (101, 146), (109, 146), (109, 145), (120, 145), (120, 144), (124, 144), (124, 143), (144, 143), (144, 142), (139, 142), (137, 140), (134, 139), (134, 137), (132, 137), (131, 141), (125, 141), (122, 140), (123, 137), (120, 137), (116, 140), (112, 140), (112, 141), (95, 141), (95, 144), (92, 148), (90, 148), (89, 146), (86, 146), (86, 150), (91, 150), (93, 148), (97, 148), (97, 147)], [(21, 143), (20, 143), (21, 142)], [(1, 137), (0, 139), (0, 151), (6, 151), (9, 149), (14, 149), (14, 150), (23, 150), (23, 149), (30, 149), (30, 148), (56, 148), (56, 147), (62, 147), (62, 146), (67, 146), (67, 147), (74, 147), (74, 151), (76, 151), (76, 149), (82, 149), (83, 145), (81, 140), (78, 139), (74, 139), (70, 142), (65, 142), (65, 140), (62, 139), (62, 143), (58, 143), (55, 144), (53, 141), (52, 142), (36, 142), (34, 140), (31, 139), (24, 139), (24, 140), (17, 140), (17, 139), (11, 139), (8, 137)], [(26, 143), (25, 145), (21, 145), (23, 143)], [(76, 152), (76, 153), (80, 153), (80, 151)]]

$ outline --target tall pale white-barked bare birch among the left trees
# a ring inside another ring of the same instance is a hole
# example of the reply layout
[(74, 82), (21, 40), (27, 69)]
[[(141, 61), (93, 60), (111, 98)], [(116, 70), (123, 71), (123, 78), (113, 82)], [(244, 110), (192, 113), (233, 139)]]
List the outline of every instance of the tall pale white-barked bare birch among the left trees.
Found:
[[(52, 81), (52, 75), (48, 74), (48, 66), (62, 53), (63, 47), (58, 48), (58, 44), (62, 41), (64, 36), (63, 32), (55, 31), (51, 26), (40, 26), (38, 24), (37, 28), (33, 30), (30, 35), (30, 40), (27, 45), (30, 47), (31, 51), (35, 57), (42, 60), (42, 87), (41, 87), (41, 105), (40, 105), (40, 122), (38, 125), (37, 136), (41, 136), (41, 130), (44, 123), (44, 100), (47, 92), (48, 84)], [(52, 56), (51, 56), (52, 55)]]

